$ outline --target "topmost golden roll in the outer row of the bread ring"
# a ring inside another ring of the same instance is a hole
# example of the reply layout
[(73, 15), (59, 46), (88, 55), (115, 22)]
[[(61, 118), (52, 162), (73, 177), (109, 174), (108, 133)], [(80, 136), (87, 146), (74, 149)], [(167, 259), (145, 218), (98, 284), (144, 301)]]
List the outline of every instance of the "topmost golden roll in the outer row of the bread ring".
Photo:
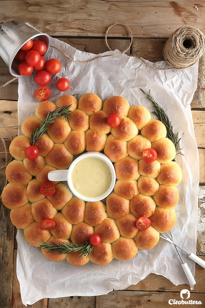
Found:
[(81, 96), (78, 101), (78, 108), (88, 115), (99, 111), (103, 106), (101, 99), (94, 93), (87, 93)]

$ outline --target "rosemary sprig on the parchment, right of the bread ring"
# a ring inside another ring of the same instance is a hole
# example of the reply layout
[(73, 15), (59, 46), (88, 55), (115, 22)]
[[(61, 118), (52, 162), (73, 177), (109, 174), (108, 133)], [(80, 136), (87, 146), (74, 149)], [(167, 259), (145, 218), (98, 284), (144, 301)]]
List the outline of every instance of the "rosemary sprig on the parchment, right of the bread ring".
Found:
[(181, 138), (178, 139), (178, 132), (174, 133), (173, 132), (173, 127), (172, 127), (172, 122), (170, 122), (167, 113), (165, 112), (165, 110), (160, 107), (155, 101), (154, 99), (151, 97), (150, 95), (150, 91), (149, 93), (146, 93), (144, 90), (140, 89), (147, 97), (147, 99), (152, 102), (153, 106), (154, 106), (154, 112), (152, 112), (153, 114), (156, 115), (156, 117), (159, 119), (159, 121), (161, 121), (167, 128), (167, 138), (169, 138), (175, 146), (176, 152), (177, 154), (181, 154), (183, 155), (180, 150), (181, 148), (179, 148), (179, 141), (181, 140)]

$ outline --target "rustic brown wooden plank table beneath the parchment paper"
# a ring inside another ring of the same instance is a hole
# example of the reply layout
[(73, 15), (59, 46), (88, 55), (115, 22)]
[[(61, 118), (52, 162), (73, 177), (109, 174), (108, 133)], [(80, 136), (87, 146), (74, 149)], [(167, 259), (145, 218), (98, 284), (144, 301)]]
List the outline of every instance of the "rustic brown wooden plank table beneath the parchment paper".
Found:
[[(162, 48), (166, 38), (178, 27), (192, 25), (205, 33), (203, 1), (120, 1), (120, 0), (75, 0), (73, 1), (0, 1), (1, 24), (11, 20), (29, 22), (39, 31), (47, 32), (79, 50), (101, 53), (107, 51), (105, 31), (115, 22), (125, 23), (133, 33), (133, 43), (127, 52), (150, 61), (163, 60)], [(109, 45), (124, 50), (130, 38), (124, 27), (115, 26), (109, 32)], [(191, 103), (195, 135), (200, 160), (200, 187), (198, 208), (197, 255), (205, 260), (205, 56), (199, 61), (198, 86)], [(11, 80), (8, 67), (0, 58), (0, 87)], [(5, 183), (4, 144), (9, 149), (11, 139), (17, 136), (17, 80), (0, 91), (0, 192)], [(10, 210), (0, 207), (0, 308), (25, 307), (20, 299), (16, 278), (15, 228), (10, 222)], [(201, 300), (205, 306), (204, 270), (196, 265), (197, 281), (191, 292), (192, 300)], [(150, 274), (137, 285), (126, 290), (113, 291), (94, 297), (71, 296), (67, 298), (42, 299), (34, 308), (54, 307), (163, 307), (170, 305), (170, 298), (180, 299), (179, 292), (188, 284), (175, 286), (168, 279)], [(193, 305), (191, 305), (193, 306)], [(190, 307), (191, 307), (190, 306)]]

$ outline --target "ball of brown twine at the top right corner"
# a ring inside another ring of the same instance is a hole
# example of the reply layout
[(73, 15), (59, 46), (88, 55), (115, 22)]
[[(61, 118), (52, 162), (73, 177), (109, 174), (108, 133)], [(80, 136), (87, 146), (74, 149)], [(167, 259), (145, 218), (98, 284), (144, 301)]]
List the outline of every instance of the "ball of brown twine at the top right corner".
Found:
[(205, 50), (203, 33), (192, 26), (184, 26), (174, 31), (164, 48), (165, 61), (175, 69), (185, 69), (195, 64)]

